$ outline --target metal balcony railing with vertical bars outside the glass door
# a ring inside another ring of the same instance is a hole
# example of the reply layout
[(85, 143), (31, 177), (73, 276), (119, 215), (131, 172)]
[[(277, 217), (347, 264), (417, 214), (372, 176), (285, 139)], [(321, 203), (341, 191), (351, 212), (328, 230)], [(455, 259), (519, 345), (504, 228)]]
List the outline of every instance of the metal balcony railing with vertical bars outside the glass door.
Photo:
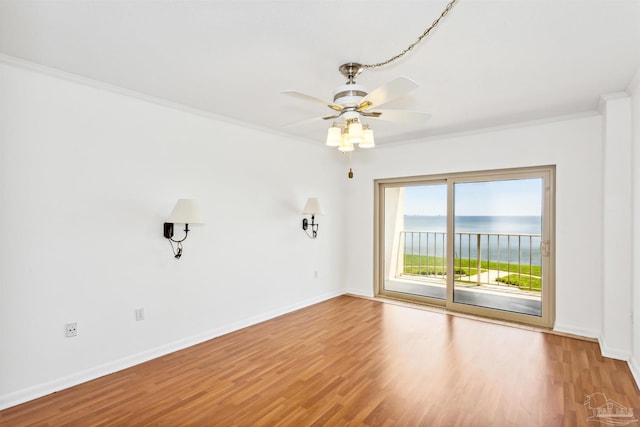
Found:
[[(456, 283), (500, 285), (540, 292), (541, 237), (540, 234), (455, 233)], [(446, 279), (447, 233), (401, 231), (400, 242), (397, 271), (401, 275)]]

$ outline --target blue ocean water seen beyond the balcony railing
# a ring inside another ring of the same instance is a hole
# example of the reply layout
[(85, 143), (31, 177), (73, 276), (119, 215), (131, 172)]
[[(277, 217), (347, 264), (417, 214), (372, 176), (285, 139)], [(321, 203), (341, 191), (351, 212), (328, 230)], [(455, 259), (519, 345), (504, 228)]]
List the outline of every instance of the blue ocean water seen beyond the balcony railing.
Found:
[[(405, 215), (405, 253), (444, 257), (446, 222), (446, 216)], [(457, 216), (454, 229), (456, 257), (475, 259), (477, 236), (480, 234), (480, 256), (483, 260), (540, 265), (541, 238), (513, 235), (541, 234), (540, 216)]]

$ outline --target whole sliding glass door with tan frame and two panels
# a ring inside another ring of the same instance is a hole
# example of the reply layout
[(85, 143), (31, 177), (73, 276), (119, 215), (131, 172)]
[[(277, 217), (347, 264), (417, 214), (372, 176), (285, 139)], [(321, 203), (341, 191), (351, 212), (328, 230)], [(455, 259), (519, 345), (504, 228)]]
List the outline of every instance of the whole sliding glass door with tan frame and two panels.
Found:
[(377, 181), (377, 294), (551, 327), (554, 173)]

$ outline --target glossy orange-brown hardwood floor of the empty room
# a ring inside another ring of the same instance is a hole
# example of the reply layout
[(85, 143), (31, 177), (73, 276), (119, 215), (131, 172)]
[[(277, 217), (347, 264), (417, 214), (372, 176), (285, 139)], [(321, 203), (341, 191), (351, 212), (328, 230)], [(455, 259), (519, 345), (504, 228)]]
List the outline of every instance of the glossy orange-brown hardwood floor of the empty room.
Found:
[(597, 392), (640, 417), (627, 364), (594, 342), (342, 296), (6, 409), (0, 425), (597, 426), (584, 404)]

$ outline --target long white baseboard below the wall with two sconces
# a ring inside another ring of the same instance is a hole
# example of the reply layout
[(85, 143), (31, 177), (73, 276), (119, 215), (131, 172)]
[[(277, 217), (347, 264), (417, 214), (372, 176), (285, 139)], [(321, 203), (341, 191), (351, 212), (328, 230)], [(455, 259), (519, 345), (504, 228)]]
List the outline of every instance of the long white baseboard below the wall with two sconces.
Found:
[(321, 294), (319, 296), (309, 298), (309, 299), (297, 302), (295, 304), (291, 304), (285, 307), (280, 307), (275, 310), (261, 313), (257, 316), (252, 316), (238, 322), (230, 323), (228, 325), (223, 325), (219, 328), (209, 330), (207, 332), (204, 332), (198, 335), (186, 337), (184, 339), (174, 341), (159, 347), (155, 347), (140, 353), (132, 354), (130, 356), (123, 357), (121, 359), (114, 360), (112, 362), (105, 363), (103, 365), (99, 365), (91, 369), (87, 369), (85, 371), (77, 372), (63, 378), (57, 378), (53, 381), (49, 381), (43, 384), (38, 384), (33, 387), (28, 387), (22, 390), (0, 395), (0, 410), (10, 408), (15, 405), (19, 405), (21, 403), (25, 403), (30, 400), (37, 399), (39, 397), (46, 396), (51, 393), (55, 393), (60, 390), (64, 390), (66, 388), (73, 387), (78, 384), (82, 384), (84, 382), (94, 380), (96, 378), (100, 378), (105, 375), (109, 375), (114, 372), (118, 372), (123, 369), (130, 368), (135, 365), (139, 365), (140, 363), (147, 362), (149, 360), (164, 356), (169, 353), (173, 353), (178, 350), (183, 350), (187, 347), (200, 344), (202, 342), (219, 337), (221, 335), (228, 334), (230, 332), (234, 332), (239, 329), (243, 329), (248, 326), (273, 319), (283, 314), (287, 314), (292, 311), (299, 310), (301, 308), (305, 308), (322, 301), (326, 301), (328, 299), (337, 297), (339, 295), (343, 295), (344, 293), (345, 291), (342, 289), (337, 291), (327, 292), (325, 294)]

